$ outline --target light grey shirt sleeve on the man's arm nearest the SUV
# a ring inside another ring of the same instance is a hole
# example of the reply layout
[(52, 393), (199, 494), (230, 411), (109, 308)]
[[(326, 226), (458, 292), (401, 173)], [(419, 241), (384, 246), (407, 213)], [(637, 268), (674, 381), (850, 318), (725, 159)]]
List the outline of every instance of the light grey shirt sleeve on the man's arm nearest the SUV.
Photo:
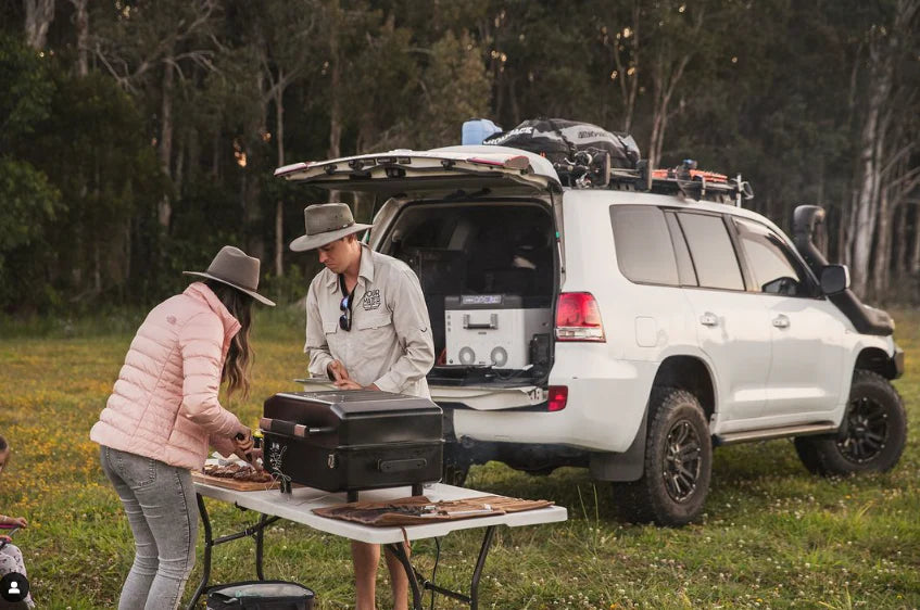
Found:
[(434, 366), (434, 342), (418, 278), (405, 269), (394, 274), (393, 279), (387, 301), (403, 355), (374, 384), (385, 392), (401, 393)]

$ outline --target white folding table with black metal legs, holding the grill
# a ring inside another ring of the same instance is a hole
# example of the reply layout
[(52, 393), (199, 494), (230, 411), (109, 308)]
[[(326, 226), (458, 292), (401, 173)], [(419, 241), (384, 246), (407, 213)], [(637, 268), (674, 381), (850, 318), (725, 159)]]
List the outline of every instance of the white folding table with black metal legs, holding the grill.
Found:
[[(518, 528), (521, 525), (538, 525), (541, 523), (553, 523), (565, 521), (567, 511), (560, 506), (550, 506), (521, 512), (511, 512), (489, 517), (477, 517), (455, 521), (440, 521), (423, 525), (406, 525), (402, 528), (375, 528), (350, 521), (340, 521), (319, 517), (313, 512), (315, 508), (325, 508), (345, 503), (345, 494), (330, 494), (320, 490), (310, 487), (294, 487), (291, 494), (281, 494), (277, 490), (266, 492), (239, 492), (218, 487), (200, 481), (194, 482), (198, 496), (198, 509), (201, 513), (201, 522), (204, 525), (204, 567), (201, 582), (196, 589), (188, 608), (192, 610), (199, 598), (204, 594), (211, 579), (211, 550), (214, 546), (253, 536), (255, 538), (255, 573), (259, 580), (264, 580), (262, 569), (263, 539), (265, 528), (278, 519), (287, 519), (295, 523), (303, 523), (314, 530), (342, 536), (352, 541), (382, 545), (392, 552), (405, 568), (408, 576), (409, 589), (412, 590), (412, 607), (421, 610), (421, 595), (425, 590), (458, 599), (468, 603), (471, 610), (479, 607), (479, 581), (482, 569), (486, 565), (486, 557), (492, 544), (495, 528), (508, 525)], [(455, 487), (441, 483), (425, 486), (425, 496), (432, 503), (439, 500), (455, 500), (490, 495), (465, 487)], [(389, 490), (368, 490), (361, 492), (362, 501), (391, 501), (411, 495), (411, 487), (393, 487)], [(254, 510), (260, 513), (259, 522), (241, 532), (214, 538), (211, 531), (211, 521), (207, 509), (204, 506), (204, 497), (226, 501), (240, 508)], [(458, 530), (484, 529), (482, 546), (472, 571), (469, 593), (459, 593), (443, 588), (426, 580), (413, 565), (403, 549), (405, 539), (418, 541), (445, 536)]]

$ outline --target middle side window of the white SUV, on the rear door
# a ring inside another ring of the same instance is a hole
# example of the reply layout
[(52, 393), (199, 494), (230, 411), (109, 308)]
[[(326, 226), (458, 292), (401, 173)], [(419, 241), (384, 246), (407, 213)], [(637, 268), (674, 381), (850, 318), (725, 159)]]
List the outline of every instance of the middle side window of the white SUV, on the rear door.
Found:
[(744, 290), (741, 267), (721, 216), (680, 213), (680, 226), (703, 288)]

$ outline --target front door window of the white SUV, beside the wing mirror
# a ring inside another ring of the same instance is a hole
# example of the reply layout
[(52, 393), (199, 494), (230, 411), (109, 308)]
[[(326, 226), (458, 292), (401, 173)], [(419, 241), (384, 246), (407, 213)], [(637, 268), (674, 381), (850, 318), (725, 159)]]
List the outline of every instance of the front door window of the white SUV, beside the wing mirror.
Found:
[(735, 218), (744, 256), (760, 292), (786, 296), (811, 296), (807, 276), (783, 241), (767, 227)]

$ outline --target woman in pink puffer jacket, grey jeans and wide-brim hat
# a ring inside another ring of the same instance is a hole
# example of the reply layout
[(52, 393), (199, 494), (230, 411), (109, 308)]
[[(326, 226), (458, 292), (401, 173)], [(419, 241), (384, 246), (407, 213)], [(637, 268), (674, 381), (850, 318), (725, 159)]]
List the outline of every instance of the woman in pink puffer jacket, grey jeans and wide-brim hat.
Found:
[(249, 392), (249, 344), (259, 259), (224, 246), (185, 292), (148, 314), (90, 439), (115, 486), (135, 536), (135, 561), (119, 610), (175, 609), (194, 565), (198, 512), (190, 469), (209, 443), (245, 459), (252, 434), (220, 406)]

